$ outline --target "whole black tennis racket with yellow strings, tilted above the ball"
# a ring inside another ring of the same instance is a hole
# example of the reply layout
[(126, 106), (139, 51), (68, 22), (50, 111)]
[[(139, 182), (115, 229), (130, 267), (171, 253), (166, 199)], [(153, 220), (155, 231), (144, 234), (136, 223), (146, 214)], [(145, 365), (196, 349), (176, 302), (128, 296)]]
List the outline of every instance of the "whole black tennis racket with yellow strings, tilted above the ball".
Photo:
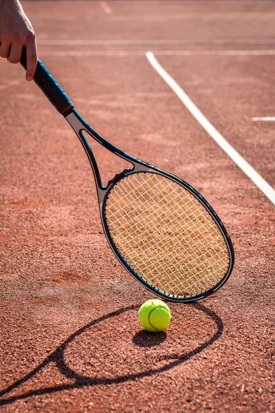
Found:
[[(21, 64), (26, 67), (25, 50)], [(163, 299), (189, 302), (214, 293), (230, 276), (234, 249), (221, 220), (187, 182), (107, 142), (78, 114), (38, 60), (36, 85), (82, 143), (94, 172), (104, 233), (122, 266)], [(131, 162), (104, 186), (87, 135)]]

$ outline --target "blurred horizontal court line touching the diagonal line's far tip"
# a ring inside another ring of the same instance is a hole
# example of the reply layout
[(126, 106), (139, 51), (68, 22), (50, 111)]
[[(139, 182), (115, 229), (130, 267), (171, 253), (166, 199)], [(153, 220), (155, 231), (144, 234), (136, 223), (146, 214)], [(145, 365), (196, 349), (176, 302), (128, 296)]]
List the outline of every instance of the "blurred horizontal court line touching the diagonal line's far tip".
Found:
[[(157, 56), (274, 56), (275, 50), (155, 50)], [(144, 56), (144, 50), (39, 50), (39, 56)]]

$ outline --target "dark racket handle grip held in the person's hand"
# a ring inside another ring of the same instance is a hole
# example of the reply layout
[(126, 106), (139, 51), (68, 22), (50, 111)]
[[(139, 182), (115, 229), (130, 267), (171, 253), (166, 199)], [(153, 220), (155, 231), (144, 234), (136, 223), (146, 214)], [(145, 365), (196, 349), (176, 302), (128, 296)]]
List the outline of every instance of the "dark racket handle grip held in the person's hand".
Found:
[[(27, 55), (25, 47), (22, 50), (22, 56), (20, 59), (21, 65), (24, 69), (27, 68)], [(72, 112), (74, 105), (69, 99), (69, 96), (65, 94), (64, 90), (58, 83), (55, 78), (50, 74), (47, 67), (43, 65), (40, 59), (37, 61), (36, 72), (34, 74), (34, 82), (42, 90), (43, 94), (50, 100), (50, 103), (56, 107), (58, 112), (63, 116), (67, 116)]]

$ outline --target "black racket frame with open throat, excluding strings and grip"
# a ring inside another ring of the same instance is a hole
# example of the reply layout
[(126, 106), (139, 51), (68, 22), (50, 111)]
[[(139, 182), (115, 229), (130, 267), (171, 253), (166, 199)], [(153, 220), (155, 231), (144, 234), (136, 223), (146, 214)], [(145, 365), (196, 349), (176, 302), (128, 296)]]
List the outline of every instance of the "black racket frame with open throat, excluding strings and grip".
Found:
[[(208, 295), (214, 293), (217, 289), (219, 289), (230, 277), (230, 274), (232, 273), (232, 269), (234, 266), (234, 248), (232, 245), (232, 241), (230, 240), (230, 236), (228, 235), (225, 226), (221, 222), (219, 216), (217, 213), (212, 209), (210, 204), (206, 201), (205, 198), (195, 189), (193, 188), (190, 184), (182, 180), (181, 178), (173, 175), (173, 173), (170, 173), (168, 171), (164, 171), (164, 169), (160, 169), (158, 167), (155, 167), (154, 165), (149, 164), (148, 162), (144, 162), (143, 160), (140, 160), (138, 158), (135, 158), (134, 156), (129, 155), (129, 153), (126, 153), (122, 151), (121, 149), (118, 149), (118, 147), (115, 147), (112, 145), (110, 142), (108, 142), (106, 139), (104, 139), (100, 134), (98, 134), (91, 126), (83, 119), (80, 114), (76, 111), (76, 109), (72, 109), (69, 114), (65, 114), (65, 118), (69, 125), (71, 125), (72, 129), (74, 129), (76, 135), (78, 136), (81, 144), (83, 145), (85, 152), (87, 153), (87, 157), (89, 159), (91, 169), (94, 173), (94, 179), (96, 181), (96, 189), (98, 193), (98, 204), (99, 204), (99, 209), (100, 209), (100, 218), (102, 222), (102, 228), (104, 230), (104, 234), (107, 238), (107, 241), (109, 242), (109, 246), (111, 247), (111, 250), (113, 251), (115, 257), (117, 257), (118, 261), (126, 271), (128, 271), (138, 282), (140, 282), (145, 288), (150, 290), (152, 293), (155, 295), (166, 299), (168, 301), (174, 301), (174, 302), (192, 302), (192, 301), (197, 301), (199, 299), (202, 299), (204, 297), (207, 297)], [(94, 153), (91, 150), (91, 147), (89, 145), (89, 142), (84, 134), (89, 134), (91, 138), (94, 138), (97, 142), (99, 142), (104, 148), (108, 149), (115, 155), (119, 156), (120, 158), (130, 162), (133, 165), (133, 168), (127, 168), (124, 169), (124, 171), (121, 171), (120, 173), (117, 173), (109, 182), (106, 186), (102, 184), (101, 178), (100, 178), (100, 172), (98, 169), (98, 165), (96, 163), (96, 159), (94, 157)], [(116, 247), (115, 242), (113, 241), (111, 234), (109, 233), (108, 230), (108, 225), (107, 225), (107, 218), (104, 213), (104, 208), (107, 202), (108, 195), (120, 180), (123, 178), (126, 178), (126, 176), (132, 175), (133, 173), (157, 173), (160, 176), (163, 176), (164, 178), (168, 178), (175, 182), (176, 184), (181, 185), (181, 187), (184, 187), (189, 193), (191, 193), (203, 207), (208, 211), (210, 214), (212, 220), (214, 220), (215, 224), (217, 224), (217, 227), (219, 228), (219, 231), (221, 232), (221, 235), (223, 236), (223, 240), (228, 248), (228, 255), (229, 255), (229, 265), (228, 265), (228, 270), (226, 273), (221, 277), (219, 282), (214, 284), (214, 286), (201, 291), (201, 293), (195, 294), (195, 295), (186, 295), (186, 296), (181, 296), (181, 295), (173, 295), (170, 293), (166, 293), (163, 291), (161, 288), (157, 288), (156, 286), (153, 286), (150, 282), (148, 282), (142, 275), (137, 273), (137, 271), (134, 270), (134, 268), (127, 262), (122, 253), (120, 253), (119, 249)]]

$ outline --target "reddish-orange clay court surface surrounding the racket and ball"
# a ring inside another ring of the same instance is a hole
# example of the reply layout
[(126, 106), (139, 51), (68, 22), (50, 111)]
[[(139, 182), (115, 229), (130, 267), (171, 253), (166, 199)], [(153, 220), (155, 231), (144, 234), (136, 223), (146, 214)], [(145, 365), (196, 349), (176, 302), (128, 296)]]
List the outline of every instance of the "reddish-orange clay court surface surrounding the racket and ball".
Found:
[[(165, 332), (142, 330), (137, 309), (154, 296), (109, 249), (85, 151), (21, 65), (2, 59), (0, 411), (273, 412), (274, 205), (145, 54), (274, 186), (274, 1), (23, 7), (80, 114), (201, 191), (236, 264), (214, 295), (169, 304)], [(129, 166), (93, 144), (104, 182)]]

